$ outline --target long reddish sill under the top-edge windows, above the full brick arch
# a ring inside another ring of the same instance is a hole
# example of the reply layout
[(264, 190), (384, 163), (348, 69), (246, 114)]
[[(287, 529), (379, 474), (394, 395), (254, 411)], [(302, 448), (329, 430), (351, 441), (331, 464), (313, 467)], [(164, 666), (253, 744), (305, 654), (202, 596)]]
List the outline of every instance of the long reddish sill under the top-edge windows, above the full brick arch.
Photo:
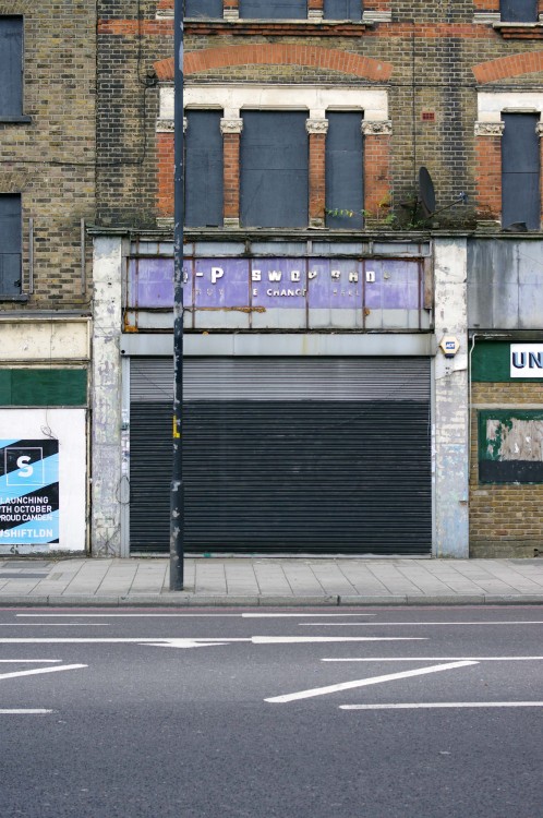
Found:
[(372, 23), (323, 20), (185, 20), (186, 34), (260, 34), (263, 36), (313, 35), (316, 37), (360, 37)]

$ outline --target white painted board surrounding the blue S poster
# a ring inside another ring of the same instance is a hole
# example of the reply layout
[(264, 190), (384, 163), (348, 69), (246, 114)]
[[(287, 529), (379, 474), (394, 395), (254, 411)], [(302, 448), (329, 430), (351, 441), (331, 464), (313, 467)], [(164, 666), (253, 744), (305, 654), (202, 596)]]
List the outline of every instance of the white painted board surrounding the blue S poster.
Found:
[[(86, 543), (86, 410), (0, 409), (2, 440), (43, 440), (47, 436), (59, 441), (60, 542), (39, 546), (17, 543), (19, 553), (82, 552)], [(2, 545), (0, 553), (5, 551)]]

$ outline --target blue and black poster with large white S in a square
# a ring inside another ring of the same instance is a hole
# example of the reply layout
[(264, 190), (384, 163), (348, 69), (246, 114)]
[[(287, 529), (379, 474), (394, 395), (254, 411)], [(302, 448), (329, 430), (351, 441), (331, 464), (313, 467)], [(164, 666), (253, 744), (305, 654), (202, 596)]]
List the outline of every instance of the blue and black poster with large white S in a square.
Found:
[(0, 550), (58, 542), (59, 442), (0, 440)]

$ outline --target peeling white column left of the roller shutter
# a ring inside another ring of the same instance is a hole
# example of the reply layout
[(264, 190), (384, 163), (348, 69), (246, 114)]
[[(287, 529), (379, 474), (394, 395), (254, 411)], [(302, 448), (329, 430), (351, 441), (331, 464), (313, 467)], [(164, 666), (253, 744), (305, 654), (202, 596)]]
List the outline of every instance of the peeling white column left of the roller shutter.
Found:
[(94, 243), (93, 515), (94, 556), (120, 554), (122, 240)]

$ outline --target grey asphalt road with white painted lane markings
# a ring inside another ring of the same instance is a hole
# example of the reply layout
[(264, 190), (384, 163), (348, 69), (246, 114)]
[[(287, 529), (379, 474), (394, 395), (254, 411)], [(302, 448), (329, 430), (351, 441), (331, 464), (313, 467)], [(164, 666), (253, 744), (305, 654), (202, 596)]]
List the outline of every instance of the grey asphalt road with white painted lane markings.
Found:
[(0, 816), (540, 818), (543, 609), (0, 611)]

